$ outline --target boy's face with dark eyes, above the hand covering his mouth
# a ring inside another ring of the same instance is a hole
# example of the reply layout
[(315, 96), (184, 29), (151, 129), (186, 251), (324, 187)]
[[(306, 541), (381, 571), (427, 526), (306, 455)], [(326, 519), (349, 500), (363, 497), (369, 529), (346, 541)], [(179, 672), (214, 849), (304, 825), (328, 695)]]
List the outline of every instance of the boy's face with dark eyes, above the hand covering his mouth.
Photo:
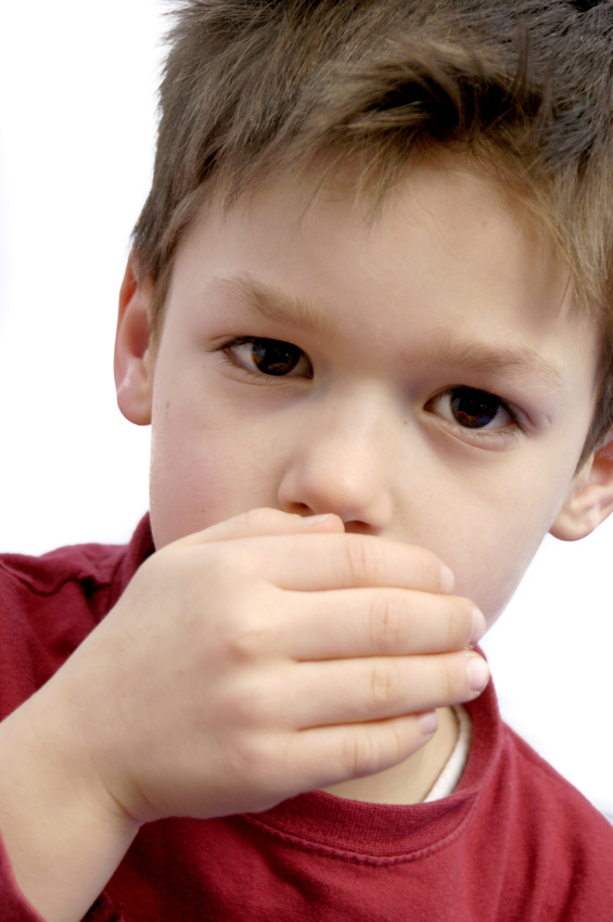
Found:
[(180, 246), (143, 360), (156, 546), (335, 512), (433, 550), (491, 620), (576, 488), (596, 332), (470, 172), (416, 168), (370, 225), (310, 199), (271, 185)]

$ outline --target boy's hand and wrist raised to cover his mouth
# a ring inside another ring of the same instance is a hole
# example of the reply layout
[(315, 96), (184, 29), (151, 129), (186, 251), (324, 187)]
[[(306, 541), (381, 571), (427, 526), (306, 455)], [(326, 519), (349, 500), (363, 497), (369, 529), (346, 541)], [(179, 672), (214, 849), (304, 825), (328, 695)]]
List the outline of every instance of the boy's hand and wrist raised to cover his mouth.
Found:
[(154, 554), (0, 726), (0, 829), (28, 899), (76, 922), (144, 822), (407, 758), (423, 712), (476, 694), (483, 616), (448, 588), (432, 554), (335, 516), (258, 511)]

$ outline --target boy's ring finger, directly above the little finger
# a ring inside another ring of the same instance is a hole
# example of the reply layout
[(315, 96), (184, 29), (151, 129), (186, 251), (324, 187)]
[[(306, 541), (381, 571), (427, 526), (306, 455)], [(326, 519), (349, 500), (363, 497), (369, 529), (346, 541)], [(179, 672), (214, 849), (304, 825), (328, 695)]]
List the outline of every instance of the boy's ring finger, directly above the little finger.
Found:
[(477, 653), (301, 664), (280, 714), (297, 729), (400, 717), (472, 701), (487, 684)]

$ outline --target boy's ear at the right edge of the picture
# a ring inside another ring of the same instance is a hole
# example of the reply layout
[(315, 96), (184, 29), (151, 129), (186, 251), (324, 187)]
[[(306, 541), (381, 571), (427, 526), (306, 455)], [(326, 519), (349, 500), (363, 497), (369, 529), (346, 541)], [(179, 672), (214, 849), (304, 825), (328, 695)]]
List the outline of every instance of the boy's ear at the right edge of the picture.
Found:
[(613, 512), (613, 431), (587, 459), (553, 527), (555, 538), (576, 541), (590, 535)]

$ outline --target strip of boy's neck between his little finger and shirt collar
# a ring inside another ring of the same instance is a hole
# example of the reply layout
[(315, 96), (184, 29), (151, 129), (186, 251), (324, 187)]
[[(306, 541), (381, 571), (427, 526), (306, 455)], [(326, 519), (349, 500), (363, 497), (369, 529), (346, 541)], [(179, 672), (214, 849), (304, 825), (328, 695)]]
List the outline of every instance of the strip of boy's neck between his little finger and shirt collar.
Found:
[(325, 789), (329, 794), (371, 804), (421, 804), (458, 742), (458, 719), (450, 707), (438, 710), (438, 730), (412, 756), (392, 768)]

